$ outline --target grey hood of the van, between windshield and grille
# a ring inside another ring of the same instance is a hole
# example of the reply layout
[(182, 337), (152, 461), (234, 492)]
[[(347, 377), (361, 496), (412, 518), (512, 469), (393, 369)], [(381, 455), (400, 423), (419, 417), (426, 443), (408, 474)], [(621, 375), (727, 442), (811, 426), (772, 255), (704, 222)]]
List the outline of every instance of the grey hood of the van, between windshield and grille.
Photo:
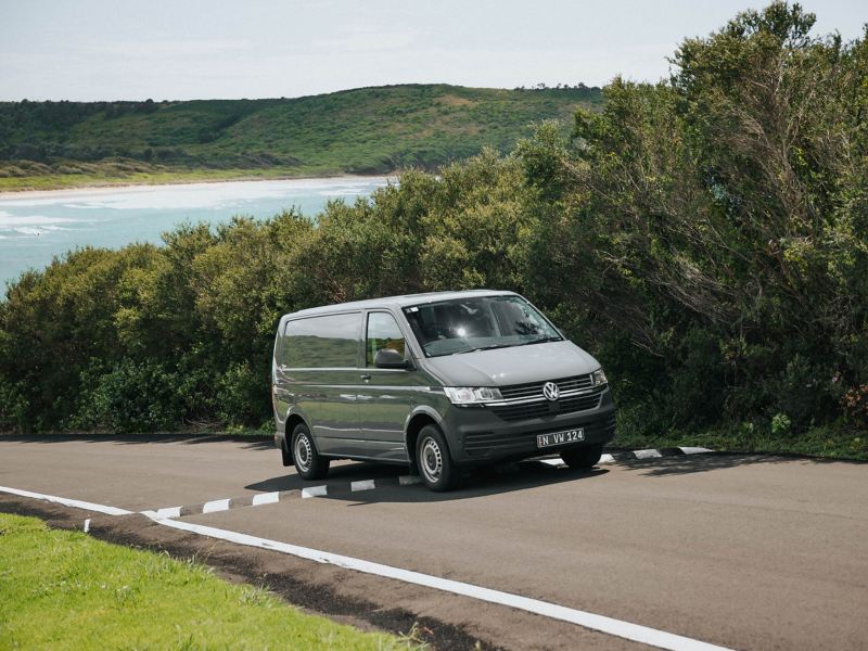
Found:
[(425, 359), (446, 386), (509, 386), (590, 373), (600, 363), (573, 342), (549, 342)]

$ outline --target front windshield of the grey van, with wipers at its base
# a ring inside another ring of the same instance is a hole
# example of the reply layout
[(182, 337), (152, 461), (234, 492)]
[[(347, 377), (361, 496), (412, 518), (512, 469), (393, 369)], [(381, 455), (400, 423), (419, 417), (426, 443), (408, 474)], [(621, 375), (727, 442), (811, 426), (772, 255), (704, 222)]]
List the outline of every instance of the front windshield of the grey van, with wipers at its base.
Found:
[(427, 357), (561, 341), (521, 296), (473, 296), (404, 309)]

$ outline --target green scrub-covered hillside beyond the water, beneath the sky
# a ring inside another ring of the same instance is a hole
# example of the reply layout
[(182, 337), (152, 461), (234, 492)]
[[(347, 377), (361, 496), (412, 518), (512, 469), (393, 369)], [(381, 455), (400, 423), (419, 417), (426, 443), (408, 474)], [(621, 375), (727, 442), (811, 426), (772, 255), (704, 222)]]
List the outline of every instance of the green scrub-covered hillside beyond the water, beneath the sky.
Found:
[(572, 123), (597, 88), (446, 85), (297, 99), (0, 103), (0, 189), (173, 178), (433, 169), (483, 146), (507, 151), (531, 125)]

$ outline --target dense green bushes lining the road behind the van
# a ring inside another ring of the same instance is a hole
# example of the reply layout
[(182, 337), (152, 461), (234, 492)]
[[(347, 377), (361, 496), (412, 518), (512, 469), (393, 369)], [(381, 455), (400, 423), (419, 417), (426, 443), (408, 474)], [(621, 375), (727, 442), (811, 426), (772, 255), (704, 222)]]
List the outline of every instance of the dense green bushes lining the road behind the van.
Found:
[(668, 82), (613, 81), (571, 139), (544, 124), (316, 220), (27, 273), (0, 306), (0, 425), (256, 426), (281, 314), (490, 286), (602, 359), (635, 435), (864, 427), (868, 46), (812, 24), (748, 12), (685, 41)]

